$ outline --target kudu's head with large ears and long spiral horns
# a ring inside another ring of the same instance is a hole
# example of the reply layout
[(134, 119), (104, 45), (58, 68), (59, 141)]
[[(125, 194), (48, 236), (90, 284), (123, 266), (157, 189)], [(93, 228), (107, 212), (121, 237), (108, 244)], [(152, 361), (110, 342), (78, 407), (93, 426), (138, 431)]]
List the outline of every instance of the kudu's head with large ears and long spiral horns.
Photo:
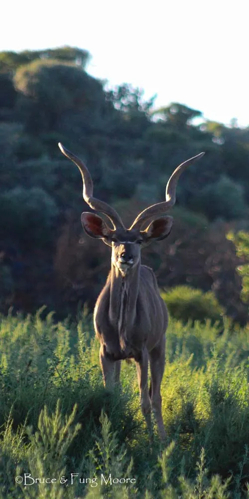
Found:
[[(152, 241), (165, 239), (172, 228), (173, 218), (163, 216), (165, 212), (174, 206), (176, 185), (181, 173), (194, 161), (201, 158), (205, 153), (200, 153), (179, 165), (171, 175), (166, 187), (166, 201), (156, 203), (143, 210), (129, 227), (126, 229), (118, 213), (104, 201), (93, 197), (93, 181), (86, 165), (73, 153), (68, 151), (59, 142), (61, 152), (73, 161), (79, 168), (83, 179), (83, 198), (94, 211), (105, 214), (111, 221), (111, 229), (107, 223), (95, 213), (83, 212), (81, 222), (86, 233), (95, 239), (102, 241), (112, 247), (112, 263), (122, 276), (126, 275), (138, 262), (140, 262), (141, 248), (149, 245)], [(156, 218), (157, 216), (160, 218)], [(153, 221), (142, 230), (145, 222)]]

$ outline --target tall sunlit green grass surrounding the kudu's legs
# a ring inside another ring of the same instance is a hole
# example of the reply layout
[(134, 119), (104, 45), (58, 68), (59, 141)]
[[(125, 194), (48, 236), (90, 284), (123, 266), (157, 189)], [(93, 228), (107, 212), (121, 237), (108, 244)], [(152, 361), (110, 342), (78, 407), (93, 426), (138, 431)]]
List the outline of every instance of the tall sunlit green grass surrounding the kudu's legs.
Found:
[(156, 428), (149, 444), (134, 363), (121, 391), (105, 390), (91, 318), (42, 313), (0, 317), (0, 499), (249, 498), (247, 328), (171, 319), (162, 446)]

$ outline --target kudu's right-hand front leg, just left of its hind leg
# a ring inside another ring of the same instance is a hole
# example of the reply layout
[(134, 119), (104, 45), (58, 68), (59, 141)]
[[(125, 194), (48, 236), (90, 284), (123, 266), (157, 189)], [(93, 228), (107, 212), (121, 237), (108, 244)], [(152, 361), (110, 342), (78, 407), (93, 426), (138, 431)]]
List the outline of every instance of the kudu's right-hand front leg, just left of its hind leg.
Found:
[(136, 361), (137, 381), (140, 393), (141, 411), (145, 418), (149, 438), (151, 439), (151, 404), (148, 390), (148, 352), (144, 349), (141, 358)]

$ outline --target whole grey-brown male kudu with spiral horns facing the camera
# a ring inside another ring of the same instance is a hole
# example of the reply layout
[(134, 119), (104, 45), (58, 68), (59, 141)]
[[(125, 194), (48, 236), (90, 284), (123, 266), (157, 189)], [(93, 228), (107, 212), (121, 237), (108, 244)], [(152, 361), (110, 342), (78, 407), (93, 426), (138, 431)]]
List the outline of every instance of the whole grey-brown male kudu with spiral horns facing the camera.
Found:
[[(150, 429), (151, 406), (160, 438), (165, 437), (161, 412), (160, 385), (165, 364), (165, 331), (167, 309), (160, 297), (151, 268), (141, 265), (140, 251), (152, 241), (166, 238), (173, 218), (163, 215), (175, 204), (177, 181), (181, 173), (204, 153), (182, 163), (171, 175), (166, 187), (166, 201), (143, 210), (126, 229), (118, 213), (108, 204), (93, 197), (93, 182), (84, 163), (59, 143), (62, 153), (79, 168), (83, 179), (83, 198), (95, 211), (105, 214), (113, 224), (94, 213), (84, 212), (81, 222), (86, 233), (112, 248), (111, 270), (94, 310), (94, 326), (100, 341), (100, 362), (105, 386), (118, 382), (121, 360), (136, 362), (142, 413)], [(142, 226), (153, 221), (144, 230)], [(148, 389), (148, 361), (151, 383)]]

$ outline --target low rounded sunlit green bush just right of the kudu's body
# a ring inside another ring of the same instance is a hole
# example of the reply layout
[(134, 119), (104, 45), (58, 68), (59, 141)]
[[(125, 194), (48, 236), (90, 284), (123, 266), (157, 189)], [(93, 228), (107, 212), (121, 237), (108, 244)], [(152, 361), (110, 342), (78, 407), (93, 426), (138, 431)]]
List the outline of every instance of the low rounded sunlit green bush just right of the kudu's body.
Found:
[(170, 315), (183, 322), (188, 320), (211, 319), (212, 322), (221, 320), (224, 309), (219, 304), (214, 293), (204, 293), (201, 289), (193, 289), (190, 286), (176, 286), (170, 291), (162, 292)]

